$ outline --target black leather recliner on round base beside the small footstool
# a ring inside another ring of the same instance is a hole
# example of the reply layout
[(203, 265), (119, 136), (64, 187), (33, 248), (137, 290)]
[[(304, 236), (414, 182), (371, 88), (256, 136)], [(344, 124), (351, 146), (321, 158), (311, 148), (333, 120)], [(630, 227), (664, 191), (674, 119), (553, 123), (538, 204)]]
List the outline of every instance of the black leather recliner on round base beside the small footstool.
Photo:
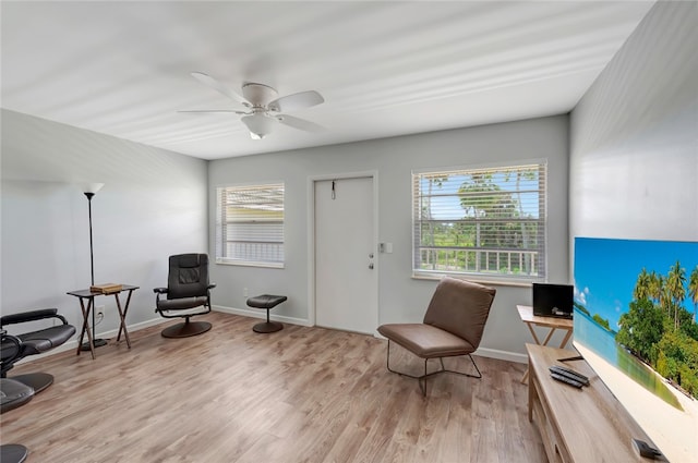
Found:
[[(183, 322), (163, 330), (165, 338), (186, 338), (208, 331), (207, 321), (190, 321), (190, 317), (210, 312), (208, 255), (178, 254), (169, 258), (167, 288), (155, 288), (155, 312), (165, 318), (184, 318)], [(166, 297), (163, 297), (165, 295)]]

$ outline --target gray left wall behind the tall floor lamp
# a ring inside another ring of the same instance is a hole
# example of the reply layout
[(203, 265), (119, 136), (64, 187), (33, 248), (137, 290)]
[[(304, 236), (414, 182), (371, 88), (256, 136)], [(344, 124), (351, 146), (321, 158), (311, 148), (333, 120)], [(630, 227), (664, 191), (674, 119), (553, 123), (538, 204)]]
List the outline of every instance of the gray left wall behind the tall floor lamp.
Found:
[[(95, 280), (141, 287), (128, 316), (134, 328), (161, 321), (153, 288), (167, 284), (167, 257), (206, 252), (206, 161), (2, 110), (1, 310), (57, 307), (80, 327), (67, 291), (89, 287), (93, 198)], [(98, 297), (118, 327), (113, 297)], [(108, 334), (107, 334), (108, 336)]]

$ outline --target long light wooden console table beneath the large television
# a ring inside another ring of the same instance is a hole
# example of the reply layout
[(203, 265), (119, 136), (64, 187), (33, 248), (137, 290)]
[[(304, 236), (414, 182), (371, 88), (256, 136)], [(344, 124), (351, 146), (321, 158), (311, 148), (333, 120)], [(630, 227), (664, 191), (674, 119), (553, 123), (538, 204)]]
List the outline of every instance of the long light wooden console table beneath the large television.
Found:
[[(585, 361), (557, 362), (576, 355), (563, 349), (526, 344), (529, 360), (528, 419), (543, 439), (550, 463), (649, 462), (631, 438), (651, 439)], [(547, 367), (564, 365), (589, 377), (582, 389), (550, 376)]]

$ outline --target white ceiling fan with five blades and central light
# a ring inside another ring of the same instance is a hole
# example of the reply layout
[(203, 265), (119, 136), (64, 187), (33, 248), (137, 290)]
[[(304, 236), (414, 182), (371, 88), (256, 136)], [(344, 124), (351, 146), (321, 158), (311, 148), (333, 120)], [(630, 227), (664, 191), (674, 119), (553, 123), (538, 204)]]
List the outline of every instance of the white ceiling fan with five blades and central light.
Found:
[(306, 132), (320, 132), (324, 130), (322, 125), (314, 122), (281, 113), (310, 108), (325, 101), (322, 95), (315, 90), (300, 92), (278, 97), (276, 89), (268, 85), (245, 82), (242, 84), (241, 96), (208, 74), (204, 74), (203, 72), (192, 72), (191, 74), (202, 84), (242, 105), (245, 109), (203, 109), (179, 112), (232, 112), (242, 114), (241, 120), (250, 130), (252, 139), (264, 138), (272, 133), (277, 123)]

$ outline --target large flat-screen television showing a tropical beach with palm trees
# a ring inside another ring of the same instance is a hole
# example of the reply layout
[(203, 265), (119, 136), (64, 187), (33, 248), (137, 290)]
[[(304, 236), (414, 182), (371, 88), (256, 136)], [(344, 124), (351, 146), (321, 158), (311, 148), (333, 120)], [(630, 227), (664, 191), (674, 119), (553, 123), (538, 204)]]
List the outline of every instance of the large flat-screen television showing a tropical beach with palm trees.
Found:
[(670, 462), (698, 462), (698, 243), (577, 237), (574, 254), (575, 348)]

